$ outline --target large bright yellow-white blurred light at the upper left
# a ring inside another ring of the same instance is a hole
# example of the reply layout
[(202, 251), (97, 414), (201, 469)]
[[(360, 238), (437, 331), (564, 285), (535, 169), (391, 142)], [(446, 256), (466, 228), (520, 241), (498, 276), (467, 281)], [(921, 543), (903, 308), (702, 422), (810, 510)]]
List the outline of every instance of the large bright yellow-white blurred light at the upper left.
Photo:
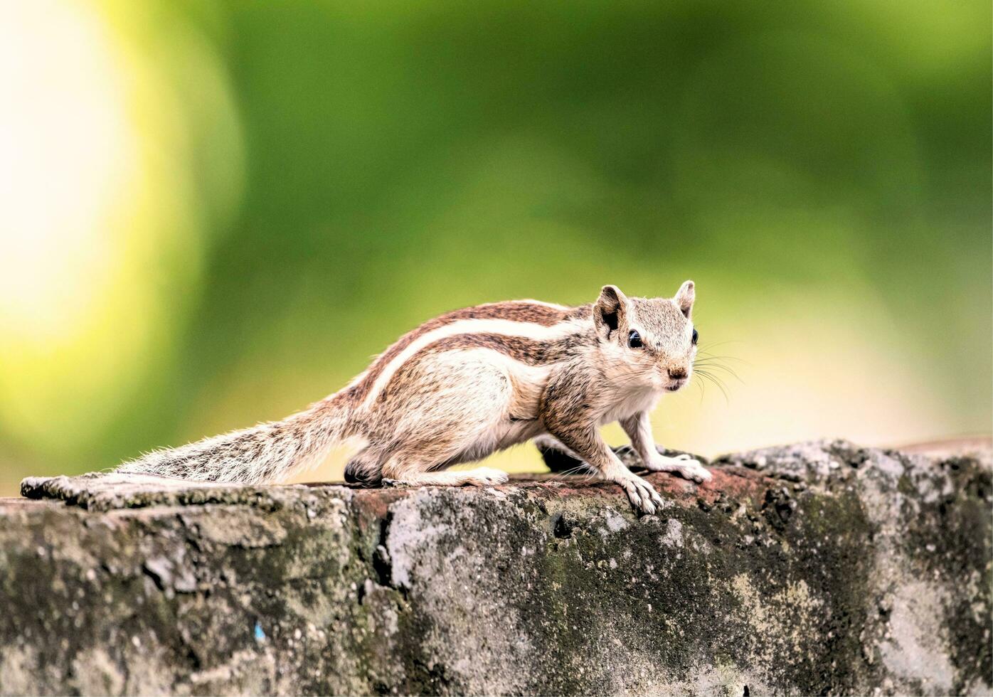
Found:
[[(99, 438), (199, 276), (197, 99), (150, 60), (146, 10), (0, 6), (0, 419), (52, 455)], [(223, 101), (213, 56), (190, 45)], [(212, 113), (236, 132), (232, 109)]]

